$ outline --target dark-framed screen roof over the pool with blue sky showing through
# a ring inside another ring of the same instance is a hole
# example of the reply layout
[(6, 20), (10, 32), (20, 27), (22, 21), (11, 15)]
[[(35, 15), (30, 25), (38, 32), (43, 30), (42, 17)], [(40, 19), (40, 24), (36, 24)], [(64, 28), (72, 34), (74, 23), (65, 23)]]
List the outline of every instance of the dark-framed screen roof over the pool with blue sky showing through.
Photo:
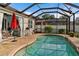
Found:
[(54, 11), (67, 16), (79, 12), (78, 3), (0, 3), (0, 6), (35, 17), (42, 13)]

